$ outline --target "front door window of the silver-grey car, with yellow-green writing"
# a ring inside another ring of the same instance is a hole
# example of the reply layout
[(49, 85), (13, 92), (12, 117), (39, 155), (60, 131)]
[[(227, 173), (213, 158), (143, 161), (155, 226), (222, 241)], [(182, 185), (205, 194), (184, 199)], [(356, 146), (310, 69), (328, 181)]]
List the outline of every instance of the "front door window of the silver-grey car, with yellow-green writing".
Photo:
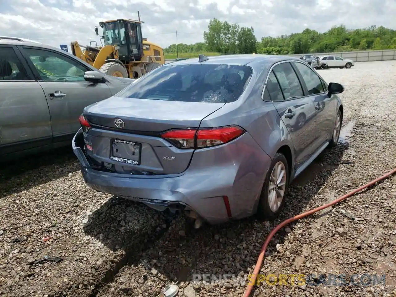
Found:
[(69, 57), (53, 51), (24, 49), (44, 81), (85, 81), (84, 73), (90, 70)]

